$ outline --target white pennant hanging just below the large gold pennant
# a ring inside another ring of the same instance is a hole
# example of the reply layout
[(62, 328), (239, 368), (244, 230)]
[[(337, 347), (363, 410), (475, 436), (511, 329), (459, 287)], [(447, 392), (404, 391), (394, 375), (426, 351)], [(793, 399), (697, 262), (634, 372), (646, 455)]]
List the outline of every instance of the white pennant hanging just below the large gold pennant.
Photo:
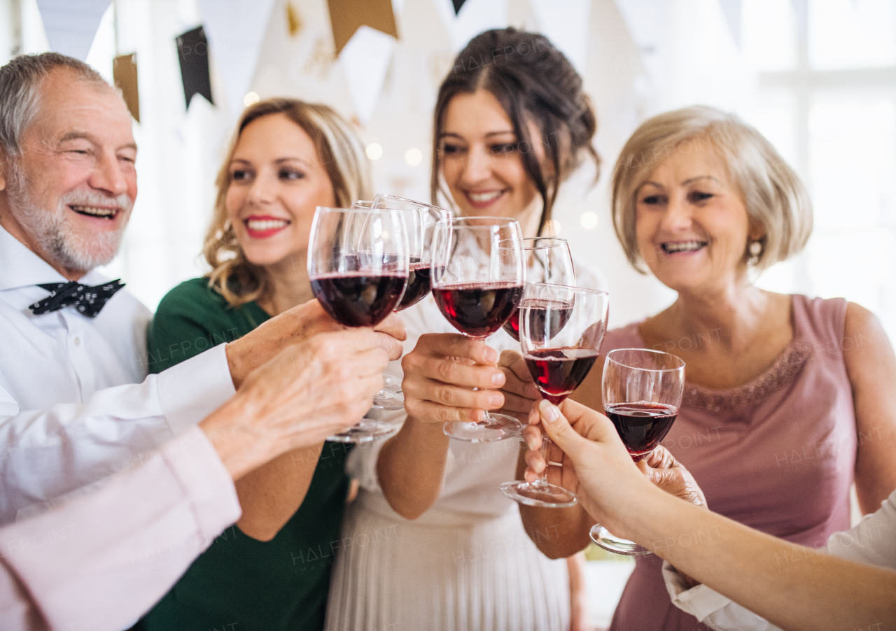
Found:
[(339, 61), (349, 82), (349, 95), (362, 124), (370, 122), (392, 60), (395, 39), (382, 31), (361, 26), (342, 48)]

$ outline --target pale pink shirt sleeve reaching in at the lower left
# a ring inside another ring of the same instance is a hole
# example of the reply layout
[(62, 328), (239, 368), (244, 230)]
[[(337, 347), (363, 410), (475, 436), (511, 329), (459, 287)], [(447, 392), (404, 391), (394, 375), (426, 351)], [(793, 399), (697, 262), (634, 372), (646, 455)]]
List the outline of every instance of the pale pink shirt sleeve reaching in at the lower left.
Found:
[(118, 631), (240, 516), (198, 427), (100, 490), (0, 530), (0, 628)]

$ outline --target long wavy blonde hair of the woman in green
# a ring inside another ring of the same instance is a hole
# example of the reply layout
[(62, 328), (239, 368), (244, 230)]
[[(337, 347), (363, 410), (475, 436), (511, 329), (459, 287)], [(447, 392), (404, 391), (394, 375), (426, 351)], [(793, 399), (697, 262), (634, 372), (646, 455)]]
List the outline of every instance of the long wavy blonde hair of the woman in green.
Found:
[(218, 196), (205, 236), (202, 254), (211, 266), (209, 286), (227, 302), (238, 307), (251, 303), (271, 290), (264, 269), (246, 260), (228, 219), (226, 200), (230, 187), (230, 162), (246, 126), (262, 116), (283, 114), (297, 124), (314, 142), (317, 159), (326, 169), (336, 205), (349, 208), (354, 200), (373, 197), (370, 162), (358, 134), (331, 107), (306, 103), (296, 98), (267, 98), (246, 108), (230, 141), (227, 158), (218, 172)]

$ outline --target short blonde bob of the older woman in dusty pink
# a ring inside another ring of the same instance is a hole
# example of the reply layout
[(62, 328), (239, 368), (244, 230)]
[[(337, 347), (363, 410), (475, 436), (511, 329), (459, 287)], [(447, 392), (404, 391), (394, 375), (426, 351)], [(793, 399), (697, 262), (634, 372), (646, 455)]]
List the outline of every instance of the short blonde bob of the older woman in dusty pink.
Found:
[(744, 260), (757, 271), (802, 251), (812, 234), (812, 202), (797, 173), (760, 132), (736, 115), (693, 106), (653, 116), (625, 143), (613, 169), (613, 227), (634, 269), (646, 273), (635, 234), (635, 193), (676, 151), (709, 147), (728, 168), (746, 212), (762, 226), (762, 252)]

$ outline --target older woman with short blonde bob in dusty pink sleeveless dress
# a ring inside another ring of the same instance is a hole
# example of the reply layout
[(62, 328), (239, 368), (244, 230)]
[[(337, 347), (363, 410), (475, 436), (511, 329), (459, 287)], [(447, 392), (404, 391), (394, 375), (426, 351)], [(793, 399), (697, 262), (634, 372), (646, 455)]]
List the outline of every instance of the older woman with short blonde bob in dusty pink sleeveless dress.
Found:
[[(854, 481), (863, 511), (879, 507), (896, 488), (896, 359), (880, 324), (841, 298), (773, 294), (751, 282), (800, 252), (812, 230), (806, 191), (771, 144), (710, 107), (655, 116), (616, 163), (613, 217), (632, 264), (678, 298), (608, 332), (601, 350), (652, 347), (685, 360), (685, 400), (663, 444), (712, 510), (817, 547), (849, 528)], [(506, 388), (525, 394), (519, 378)], [(596, 364), (575, 398), (602, 410), (600, 392)], [(580, 507), (522, 515), (527, 532), (564, 521), (560, 536), (537, 541), (553, 558), (581, 550), (594, 523)], [(683, 541), (701, 536), (687, 534)], [(661, 562), (638, 559), (611, 629), (705, 628), (672, 606)]]

